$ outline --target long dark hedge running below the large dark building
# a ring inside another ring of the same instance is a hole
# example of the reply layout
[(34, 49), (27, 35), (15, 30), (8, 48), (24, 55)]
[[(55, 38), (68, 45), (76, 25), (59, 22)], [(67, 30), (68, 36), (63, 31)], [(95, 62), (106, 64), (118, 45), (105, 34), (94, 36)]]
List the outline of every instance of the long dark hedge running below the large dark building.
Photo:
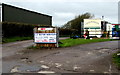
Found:
[(45, 26), (24, 23), (2, 22), (2, 35), (3, 37), (33, 36), (33, 28), (35, 26), (46, 27), (48, 25)]

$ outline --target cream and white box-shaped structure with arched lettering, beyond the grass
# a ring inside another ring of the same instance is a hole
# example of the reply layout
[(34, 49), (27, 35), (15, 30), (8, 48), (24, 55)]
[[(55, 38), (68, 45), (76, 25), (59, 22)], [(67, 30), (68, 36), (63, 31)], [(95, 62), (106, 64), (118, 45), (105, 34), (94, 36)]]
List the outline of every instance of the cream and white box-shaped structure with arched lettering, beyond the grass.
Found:
[(90, 37), (112, 37), (113, 25), (102, 19), (84, 19), (84, 34), (89, 31)]

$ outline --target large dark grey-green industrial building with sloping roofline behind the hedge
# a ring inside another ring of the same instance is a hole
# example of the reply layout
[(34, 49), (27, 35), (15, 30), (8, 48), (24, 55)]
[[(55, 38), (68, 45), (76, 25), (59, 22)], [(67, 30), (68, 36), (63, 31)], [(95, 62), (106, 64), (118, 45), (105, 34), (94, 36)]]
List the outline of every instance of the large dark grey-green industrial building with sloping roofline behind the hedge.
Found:
[(1, 22), (52, 25), (52, 16), (0, 3)]

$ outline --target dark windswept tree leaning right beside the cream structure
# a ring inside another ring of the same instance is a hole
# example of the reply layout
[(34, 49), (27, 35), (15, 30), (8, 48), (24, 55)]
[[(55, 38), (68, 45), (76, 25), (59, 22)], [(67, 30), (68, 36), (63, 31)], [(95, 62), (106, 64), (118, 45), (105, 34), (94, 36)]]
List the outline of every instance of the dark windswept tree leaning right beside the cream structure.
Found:
[(84, 21), (84, 19), (89, 19), (89, 18), (93, 18), (94, 15), (90, 14), (90, 13), (85, 13), (82, 15), (78, 15), (76, 16), (73, 20), (68, 21), (62, 28), (64, 29), (72, 29), (72, 30), (76, 30), (78, 31), (78, 34), (81, 36), (81, 22)]

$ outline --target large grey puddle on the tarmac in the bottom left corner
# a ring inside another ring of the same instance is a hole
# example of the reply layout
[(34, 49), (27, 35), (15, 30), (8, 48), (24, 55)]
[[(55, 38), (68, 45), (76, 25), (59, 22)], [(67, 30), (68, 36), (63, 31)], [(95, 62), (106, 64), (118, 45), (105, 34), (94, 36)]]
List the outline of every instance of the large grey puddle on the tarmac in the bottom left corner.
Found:
[(38, 72), (40, 70), (44, 70), (44, 68), (41, 67), (41, 64), (31, 63), (31, 64), (25, 64), (15, 61), (10, 62), (3, 62), (3, 73), (10, 73), (10, 72), (20, 72), (20, 73), (26, 73), (26, 72)]

